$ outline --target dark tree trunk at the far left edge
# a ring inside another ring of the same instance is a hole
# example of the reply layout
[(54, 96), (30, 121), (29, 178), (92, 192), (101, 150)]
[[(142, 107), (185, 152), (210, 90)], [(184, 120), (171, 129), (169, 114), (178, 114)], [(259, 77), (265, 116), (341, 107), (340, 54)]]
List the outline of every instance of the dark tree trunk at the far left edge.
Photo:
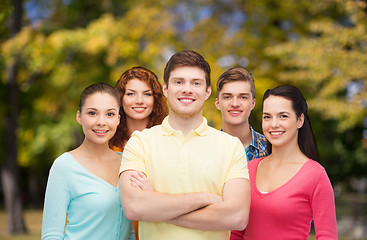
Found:
[[(22, 20), (22, 0), (13, 0), (14, 13), (12, 16), (11, 37), (20, 31)], [(23, 207), (19, 184), (19, 166), (17, 164), (17, 119), (18, 119), (18, 86), (17, 61), (7, 68), (8, 113), (5, 122), (5, 159), (1, 171), (10, 234), (24, 233), (26, 227), (23, 221)]]

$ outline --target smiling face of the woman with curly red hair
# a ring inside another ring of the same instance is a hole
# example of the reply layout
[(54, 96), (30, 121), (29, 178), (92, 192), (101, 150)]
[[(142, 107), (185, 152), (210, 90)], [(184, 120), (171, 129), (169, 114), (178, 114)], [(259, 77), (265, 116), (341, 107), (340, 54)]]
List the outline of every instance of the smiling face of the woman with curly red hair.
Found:
[(153, 106), (153, 91), (148, 84), (136, 78), (129, 80), (122, 99), (122, 107), (126, 114), (126, 119), (146, 121), (148, 123)]

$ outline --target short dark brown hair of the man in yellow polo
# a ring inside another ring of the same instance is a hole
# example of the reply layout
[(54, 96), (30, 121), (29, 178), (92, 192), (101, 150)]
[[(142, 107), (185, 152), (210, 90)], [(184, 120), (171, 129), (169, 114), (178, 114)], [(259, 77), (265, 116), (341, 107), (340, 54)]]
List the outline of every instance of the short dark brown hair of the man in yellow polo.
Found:
[(197, 52), (186, 50), (175, 53), (168, 60), (164, 68), (163, 80), (168, 86), (168, 79), (173, 70), (178, 67), (198, 67), (205, 73), (206, 87), (210, 87), (210, 66), (209, 63)]

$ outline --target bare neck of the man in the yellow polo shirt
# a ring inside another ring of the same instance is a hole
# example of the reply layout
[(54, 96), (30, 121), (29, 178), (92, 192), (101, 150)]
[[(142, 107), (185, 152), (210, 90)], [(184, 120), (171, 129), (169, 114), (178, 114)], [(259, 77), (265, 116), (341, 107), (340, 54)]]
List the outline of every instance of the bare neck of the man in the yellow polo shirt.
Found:
[(179, 117), (175, 114), (168, 116), (169, 124), (175, 129), (180, 130), (186, 136), (191, 130), (198, 128), (203, 121), (203, 116), (198, 114), (194, 117)]

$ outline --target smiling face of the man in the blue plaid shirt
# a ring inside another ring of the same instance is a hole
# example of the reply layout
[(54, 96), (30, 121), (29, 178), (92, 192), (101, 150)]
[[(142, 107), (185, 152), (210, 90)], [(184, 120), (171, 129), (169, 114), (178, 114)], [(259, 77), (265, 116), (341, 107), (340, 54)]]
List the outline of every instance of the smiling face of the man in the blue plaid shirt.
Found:
[(255, 107), (255, 99), (251, 94), (250, 83), (246, 81), (233, 81), (225, 83), (215, 106), (222, 113), (222, 120), (229, 125), (242, 125), (248, 123), (248, 118)]

